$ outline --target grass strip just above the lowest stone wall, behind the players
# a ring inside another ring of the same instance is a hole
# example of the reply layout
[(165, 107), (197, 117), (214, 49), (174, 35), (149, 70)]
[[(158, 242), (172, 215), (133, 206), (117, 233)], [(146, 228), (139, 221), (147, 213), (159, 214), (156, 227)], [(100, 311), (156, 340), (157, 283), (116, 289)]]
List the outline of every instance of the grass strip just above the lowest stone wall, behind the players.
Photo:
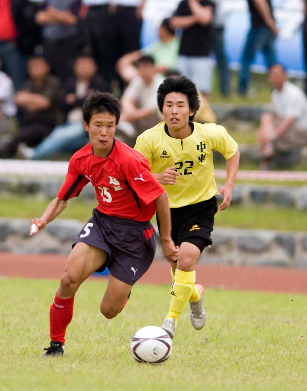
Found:
[[(32, 198), (2, 198), (0, 203), (1, 217), (18, 217), (32, 219), (40, 217), (49, 201), (33, 202)], [(68, 207), (61, 213), (63, 219), (79, 219), (85, 222), (91, 216), (95, 200), (92, 202), (82, 199), (73, 199)], [(155, 216), (153, 218), (155, 222)], [(307, 227), (307, 213), (302, 213), (294, 207), (273, 208), (271, 206), (253, 205), (239, 206), (230, 205), (227, 210), (219, 211), (215, 216), (216, 227), (265, 229), (280, 231), (305, 231)]]

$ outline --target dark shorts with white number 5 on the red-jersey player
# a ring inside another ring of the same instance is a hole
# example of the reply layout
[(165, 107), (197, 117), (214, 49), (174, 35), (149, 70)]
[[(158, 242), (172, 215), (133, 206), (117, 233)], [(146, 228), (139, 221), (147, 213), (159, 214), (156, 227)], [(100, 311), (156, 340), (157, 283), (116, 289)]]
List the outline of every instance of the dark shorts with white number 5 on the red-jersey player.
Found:
[(73, 246), (78, 242), (100, 248), (107, 254), (107, 261), (98, 273), (108, 267), (113, 277), (129, 285), (134, 285), (148, 270), (156, 249), (155, 230), (150, 221), (107, 216), (96, 208)]

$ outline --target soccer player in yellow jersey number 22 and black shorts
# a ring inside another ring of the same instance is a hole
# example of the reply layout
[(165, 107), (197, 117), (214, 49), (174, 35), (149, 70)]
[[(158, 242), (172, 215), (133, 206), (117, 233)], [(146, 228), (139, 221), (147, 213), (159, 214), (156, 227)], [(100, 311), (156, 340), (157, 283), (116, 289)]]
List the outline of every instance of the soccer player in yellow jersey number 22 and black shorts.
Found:
[[(170, 309), (162, 323), (173, 338), (188, 301), (193, 327), (200, 330), (205, 325), (204, 290), (202, 285), (195, 285), (195, 262), (212, 244), (210, 236), (218, 210), (215, 195), (223, 194), (220, 210), (230, 204), (239, 150), (223, 126), (193, 122), (199, 100), (195, 84), (187, 77), (166, 78), (157, 94), (164, 122), (142, 133), (135, 149), (146, 156), (152, 173), (168, 192), (172, 239), (180, 246), (178, 259), (171, 264)], [(219, 190), (214, 180), (214, 149), (227, 160), (226, 182)]]

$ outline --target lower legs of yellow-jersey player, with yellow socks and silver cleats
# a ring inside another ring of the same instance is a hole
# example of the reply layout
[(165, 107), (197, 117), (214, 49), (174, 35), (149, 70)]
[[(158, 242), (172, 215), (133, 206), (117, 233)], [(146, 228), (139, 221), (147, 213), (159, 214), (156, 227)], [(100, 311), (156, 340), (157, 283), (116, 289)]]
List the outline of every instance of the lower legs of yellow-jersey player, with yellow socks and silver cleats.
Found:
[(190, 316), (193, 327), (200, 330), (205, 325), (205, 311), (202, 306), (203, 289), (195, 285), (195, 262), (200, 250), (194, 244), (182, 242), (180, 245), (177, 268), (173, 270), (170, 310), (162, 324), (171, 338), (175, 334), (175, 326), (187, 302), (190, 300)]

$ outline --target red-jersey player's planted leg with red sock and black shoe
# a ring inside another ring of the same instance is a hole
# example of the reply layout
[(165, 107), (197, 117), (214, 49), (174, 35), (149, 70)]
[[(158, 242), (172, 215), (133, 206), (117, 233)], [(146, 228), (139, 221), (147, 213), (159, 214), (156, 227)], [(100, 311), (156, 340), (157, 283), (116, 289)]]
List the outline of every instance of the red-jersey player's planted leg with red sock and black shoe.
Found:
[(84, 280), (99, 269), (106, 260), (105, 252), (88, 244), (78, 242), (66, 261), (64, 274), (54, 302), (50, 307), (50, 347), (45, 356), (64, 353), (65, 332), (73, 316), (75, 293)]

